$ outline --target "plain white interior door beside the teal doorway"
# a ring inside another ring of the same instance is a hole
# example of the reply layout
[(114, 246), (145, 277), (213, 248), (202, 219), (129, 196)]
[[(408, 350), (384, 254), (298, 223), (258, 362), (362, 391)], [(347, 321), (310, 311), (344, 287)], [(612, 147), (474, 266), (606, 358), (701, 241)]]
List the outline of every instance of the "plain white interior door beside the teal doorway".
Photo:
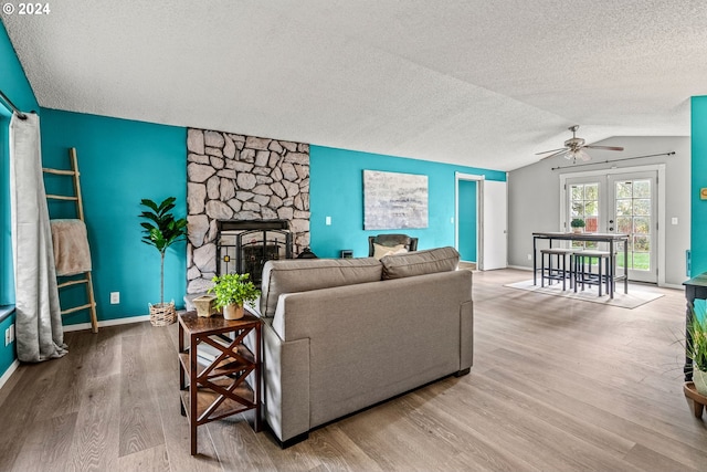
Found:
[(508, 265), (506, 182), (481, 180), (478, 183), (482, 189), (478, 269), (482, 271), (504, 269)]

